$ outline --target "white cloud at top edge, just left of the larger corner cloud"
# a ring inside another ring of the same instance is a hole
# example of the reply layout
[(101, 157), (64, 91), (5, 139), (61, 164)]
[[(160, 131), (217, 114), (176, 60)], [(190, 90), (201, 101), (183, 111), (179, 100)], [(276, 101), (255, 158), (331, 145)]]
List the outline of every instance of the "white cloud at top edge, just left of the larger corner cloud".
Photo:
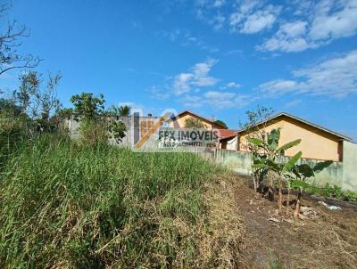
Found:
[(278, 18), (281, 8), (269, 4), (263, 6), (259, 1), (245, 1), (237, 12), (230, 15), (229, 24), (233, 31), (255, 34), (263, 29), (270, 29)]

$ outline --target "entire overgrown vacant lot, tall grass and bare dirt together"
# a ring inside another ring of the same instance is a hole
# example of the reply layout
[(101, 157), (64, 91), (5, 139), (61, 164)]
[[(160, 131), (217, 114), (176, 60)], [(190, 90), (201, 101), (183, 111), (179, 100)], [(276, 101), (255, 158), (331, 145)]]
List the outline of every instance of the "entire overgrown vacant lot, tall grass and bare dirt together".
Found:
[[(355, 268), (357, 210), (275, 216), (199, 156), (80, 146), (1, 151), (0, 268)], [(271, 217), (278, 222), (271, 221)]]

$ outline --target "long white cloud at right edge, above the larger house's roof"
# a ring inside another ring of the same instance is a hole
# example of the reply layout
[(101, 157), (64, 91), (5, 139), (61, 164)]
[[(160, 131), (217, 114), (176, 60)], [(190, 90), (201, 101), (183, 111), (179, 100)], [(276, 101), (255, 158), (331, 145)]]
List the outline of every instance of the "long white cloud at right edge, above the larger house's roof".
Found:
[(307, 69), (293, 72), (294, 80), (278, 79), (258, 87), (264, 94), (328, 95), (343, 98), (357, 93), (357, 51), (346, 53)]

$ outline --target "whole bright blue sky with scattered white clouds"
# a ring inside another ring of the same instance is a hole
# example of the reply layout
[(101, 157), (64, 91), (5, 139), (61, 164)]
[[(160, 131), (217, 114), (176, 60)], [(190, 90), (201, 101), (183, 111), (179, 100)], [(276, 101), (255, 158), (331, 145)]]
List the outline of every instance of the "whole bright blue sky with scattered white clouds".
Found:
[[(61, 71), (66, 106), (103, 93), (237, 128), (262, 104), (357, 140), (356, 0), (12, 0), (6, 19), (31, 29), (21, 51), (39, 71)], [(15, 88), (17, 71), (0, 84)]]

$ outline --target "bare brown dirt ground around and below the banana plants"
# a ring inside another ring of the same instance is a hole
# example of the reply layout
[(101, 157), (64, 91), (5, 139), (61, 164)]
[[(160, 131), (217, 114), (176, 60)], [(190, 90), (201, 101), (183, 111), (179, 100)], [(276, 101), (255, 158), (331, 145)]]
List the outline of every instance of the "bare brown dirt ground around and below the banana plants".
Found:
[(278, 216), (277, 202), (245, 185), (237, 185), (235, 196), (246, 225), (241, 267), (357, 268), (356, 208), (331, 211), (305, 197), (302, 205), (311, 215), (295, 219)]

